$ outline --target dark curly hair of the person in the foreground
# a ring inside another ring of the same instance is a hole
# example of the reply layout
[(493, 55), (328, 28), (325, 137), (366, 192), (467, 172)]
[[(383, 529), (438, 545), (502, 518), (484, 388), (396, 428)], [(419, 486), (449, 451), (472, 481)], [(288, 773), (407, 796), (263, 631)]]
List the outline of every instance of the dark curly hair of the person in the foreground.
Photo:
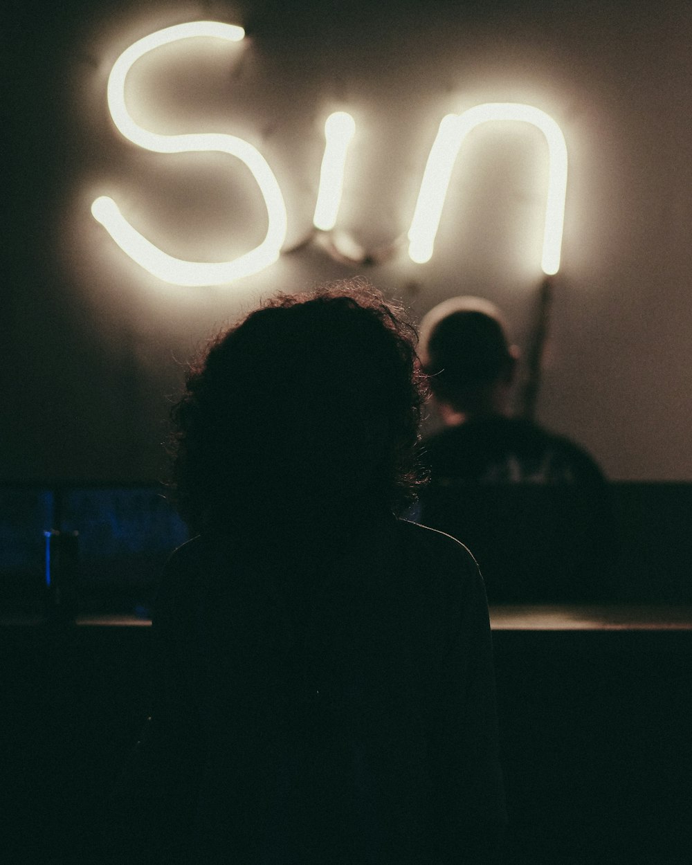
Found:
[(171, 485), (189, 527), (280, 529), (412, 503), (425, 482), (416, 338), (364, 279), (280, 293), (217, 336), (171, 411)]

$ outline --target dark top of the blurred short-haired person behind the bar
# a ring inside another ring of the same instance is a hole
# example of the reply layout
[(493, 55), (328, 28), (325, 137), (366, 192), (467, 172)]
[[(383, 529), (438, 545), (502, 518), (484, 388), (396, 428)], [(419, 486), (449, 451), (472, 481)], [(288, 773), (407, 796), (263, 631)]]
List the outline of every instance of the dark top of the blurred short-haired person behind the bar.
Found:
[[(606, 478), (529, 420), (490, 417), (427, 439), (414, 515), (476, 556), (490, 604), (599, 603), (618, 552)], [(412, 515), (413, 516), (413, 515)]]

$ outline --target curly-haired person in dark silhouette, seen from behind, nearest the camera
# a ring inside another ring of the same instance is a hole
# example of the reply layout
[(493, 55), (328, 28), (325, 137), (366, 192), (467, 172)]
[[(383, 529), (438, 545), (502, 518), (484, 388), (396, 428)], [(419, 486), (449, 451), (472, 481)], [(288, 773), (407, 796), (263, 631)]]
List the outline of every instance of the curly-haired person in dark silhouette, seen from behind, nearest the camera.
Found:
[(395, 516), (421, 484), (414, 336), (352, 280), (268, 300), (190, 369), (172, 450), (199, 534), (163, 573), (116, 861), (497, 860), (483, 582)]

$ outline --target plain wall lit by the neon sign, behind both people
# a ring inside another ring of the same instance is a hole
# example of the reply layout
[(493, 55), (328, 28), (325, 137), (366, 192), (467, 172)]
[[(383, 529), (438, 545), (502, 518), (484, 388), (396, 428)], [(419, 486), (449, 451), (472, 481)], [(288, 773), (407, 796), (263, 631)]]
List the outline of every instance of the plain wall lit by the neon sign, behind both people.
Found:
[(253, 31), (242, 56), (152, 54), (138, 80), (132, 73), (132, 111), (169, 134), (225, 131), (258, 146), (283, 190), (288, 246), (310, 233), (330, 111), (349, 110), (357, 125), (338, 225), (371, 249), (406, 233), (445, 113), (490, 101), (548, 112), (567, 139), (569, 179), (539, 419), (586, 445), (611, 477), (692, 479), (689, 4), (428, 8), (75, 0), (47, 5), (45, 17), (13, 13), (4, 369), (13, 410), (0, 475), (156, 477), (181, 363), (277, 288), (363, 273), (416, 317), (454, 294), (481, 294), (503, 306), (526, 347), (546, 183), (545, 145), (530, 127), (469, 138), (423, 266), (405, 245), (379, 266), (347, 266), (313, 243), (233, 285), (180, 288), (114, 247), (89, 213), (104, 192), (180, 257), (233, 256), (263, 236), (259, 195), (231, 157), (144, 152), (107, 113), (119, 51), (211, 18)]

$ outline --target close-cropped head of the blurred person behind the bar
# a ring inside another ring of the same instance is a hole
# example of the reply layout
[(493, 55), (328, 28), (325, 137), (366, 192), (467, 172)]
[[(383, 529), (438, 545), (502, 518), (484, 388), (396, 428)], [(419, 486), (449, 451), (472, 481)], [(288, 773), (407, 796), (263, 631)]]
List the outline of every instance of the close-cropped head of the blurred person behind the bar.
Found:
[(502, 313), (483, 298), (452, 298), (420, 324), (420, 360), (443, 419), (502, 414), (516, 375)]

